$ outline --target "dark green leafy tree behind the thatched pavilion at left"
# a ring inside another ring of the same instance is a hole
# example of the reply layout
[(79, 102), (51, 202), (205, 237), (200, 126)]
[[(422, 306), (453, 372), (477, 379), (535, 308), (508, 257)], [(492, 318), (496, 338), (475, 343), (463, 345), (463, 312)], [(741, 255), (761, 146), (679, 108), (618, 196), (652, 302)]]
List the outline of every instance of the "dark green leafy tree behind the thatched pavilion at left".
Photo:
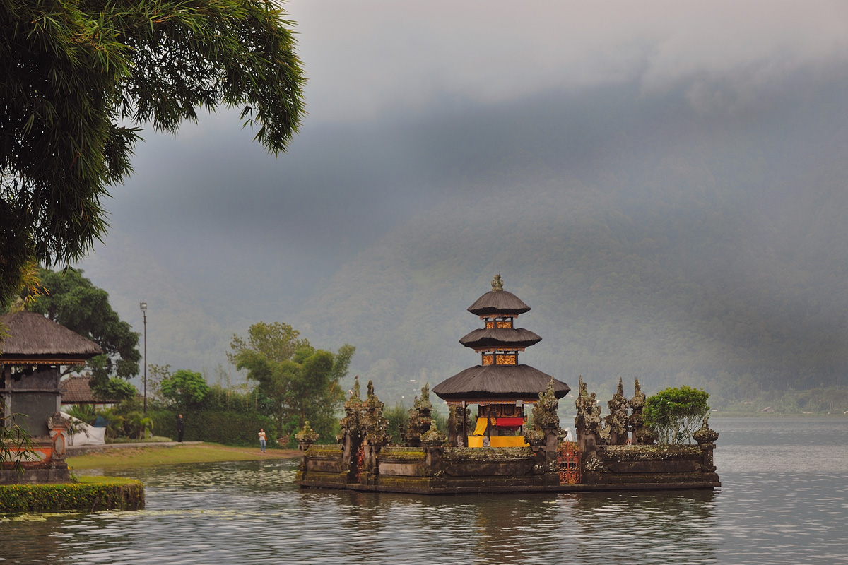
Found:
[(92, 391), (114, 400), (135, 394), (135, 388), (126, 379), (138, 374), (138, 362), (142, 359), (138, 334), (109, 304), (109, 293), (92, 285), (91, 280), (82, 276), (82, 271), (40, 269), (38, 278), (43, 291), (28, 306), (29, 310), (47, 314), (47, 318), (103, 349), (103, 355), (86, 363), (92, 371)]

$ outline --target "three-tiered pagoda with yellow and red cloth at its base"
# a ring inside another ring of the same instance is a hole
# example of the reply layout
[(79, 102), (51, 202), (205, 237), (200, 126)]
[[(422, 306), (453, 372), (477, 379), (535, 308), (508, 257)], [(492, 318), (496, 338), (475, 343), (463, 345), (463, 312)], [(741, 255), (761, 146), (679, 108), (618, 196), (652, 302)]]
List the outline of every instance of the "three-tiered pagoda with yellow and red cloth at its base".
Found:
[[(522, 447), (527, 415), (524, 407), (538, 402), (538, 394), (551, 382), (550, 374), (518, 363), (518, 353), (542, 341), (531, 330), (516, 328), (516, 319), (530, 311), (522, 300), (504, 290), (500, 275), (492, 290), (477, 298), (468, 311), (479, 316), (483, 328), (473, 330), (460, 343), (480, 355), (481, 363), (444, 380), (432, 391), (448, 402), (451, 413), (460, 413), (461, 433), (451, 434), (450, 445), (467, 447)], [(568, 394), (566, 383), (553, 379), (557, 399)], [(473, 429), (461, 418), (477, 405)]]

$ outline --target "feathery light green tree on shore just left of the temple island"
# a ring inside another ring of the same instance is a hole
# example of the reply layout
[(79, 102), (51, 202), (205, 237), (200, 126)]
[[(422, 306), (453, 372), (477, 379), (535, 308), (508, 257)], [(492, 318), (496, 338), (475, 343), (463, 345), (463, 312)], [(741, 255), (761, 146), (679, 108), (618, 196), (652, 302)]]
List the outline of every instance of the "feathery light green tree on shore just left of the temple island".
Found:
[(344, 399), (340, 381), (348, 374), (355, 348), (345, 344), (332, 353), (315, 349), (299, 335), (288, 324), (259, 322), (250, 326), (246, 341), (232, 336), (227, 357), (257, 382), (278, 429), (299, 429), (309, 420), (322, 437), (330, 437)]

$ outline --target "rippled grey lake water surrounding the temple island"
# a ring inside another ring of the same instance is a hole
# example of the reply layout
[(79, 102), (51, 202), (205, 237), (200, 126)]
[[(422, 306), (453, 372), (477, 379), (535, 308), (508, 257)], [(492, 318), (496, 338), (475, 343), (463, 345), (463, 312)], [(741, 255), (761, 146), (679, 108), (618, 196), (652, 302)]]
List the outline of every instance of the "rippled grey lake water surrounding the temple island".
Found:
[(142, 512), (0, 515), (11, 563), (848, 563), (848, 418), (714, 418), (722, 488), (405, 496), (298, 490), (296, 462), (121, 474)]

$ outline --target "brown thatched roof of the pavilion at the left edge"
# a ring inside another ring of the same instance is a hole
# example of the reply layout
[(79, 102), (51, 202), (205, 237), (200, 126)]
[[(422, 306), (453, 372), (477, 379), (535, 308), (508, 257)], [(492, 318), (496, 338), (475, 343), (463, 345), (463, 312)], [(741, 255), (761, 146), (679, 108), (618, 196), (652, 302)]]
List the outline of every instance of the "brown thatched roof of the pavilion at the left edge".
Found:
[(0, 363), (7, 365), (72, 365), (100, 355), (98, 344), (34, 312), (0, 317), (8, 337), (0, 341)]

